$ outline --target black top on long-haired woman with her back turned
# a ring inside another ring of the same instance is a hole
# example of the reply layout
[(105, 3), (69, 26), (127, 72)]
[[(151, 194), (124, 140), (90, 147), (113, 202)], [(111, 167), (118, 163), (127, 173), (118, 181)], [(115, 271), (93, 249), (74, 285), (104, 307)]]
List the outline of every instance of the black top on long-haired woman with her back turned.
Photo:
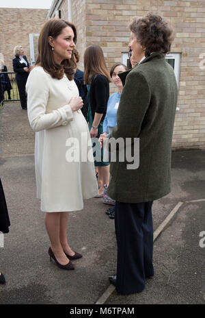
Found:
[(92, 118), (95, 112), (103, 114), (100, 120), (104, 121), (107, 112), (107, 101), (109, 99), (109, 81), (105, 75), (95, 75), (90, 86), (90, 107)]

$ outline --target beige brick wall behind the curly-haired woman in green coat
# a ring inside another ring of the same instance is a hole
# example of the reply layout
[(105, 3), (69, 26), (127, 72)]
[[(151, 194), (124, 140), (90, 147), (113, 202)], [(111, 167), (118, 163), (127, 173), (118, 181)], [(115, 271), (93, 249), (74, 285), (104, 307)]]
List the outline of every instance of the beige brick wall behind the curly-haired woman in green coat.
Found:
[[(63, 0), (66, 5), (68, 1)], [(91, 44), (102, 47), (110, 69), (128, 51), (133, 16), (156, 12), (176, 31), (172, 53), (181, 53), (178, 107), (173, 147), (205, 147), (205, 0), (72, 0), (81, 55)], [(67, 16), (66, 16), (67, 19)], [(204, 53), (204, 64), (200, 54)], [(200, 69), (200, 62), (204, 69)], [(110, 92), (115, 86), (110, 85)]]

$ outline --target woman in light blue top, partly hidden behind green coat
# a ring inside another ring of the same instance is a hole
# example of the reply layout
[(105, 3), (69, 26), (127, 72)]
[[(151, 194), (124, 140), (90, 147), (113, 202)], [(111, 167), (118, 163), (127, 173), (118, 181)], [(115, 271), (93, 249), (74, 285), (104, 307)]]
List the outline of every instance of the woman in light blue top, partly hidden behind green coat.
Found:
[[(116, 116), (118, 112), (118, 106), (120, 103), (120, 95), (122, 93), (122, 81), (118, 76), (119, 73), (126, 71), (126, 66), (122, 63), (115, 63), (110, 70), (111, 81), (118, 88), (118, 92), (113, 93), (108, 100), (107, 103), (107, 112), (105, 119), (103, 121), (103, 136), (109, 136), (111, 134), (113, 127), (116, 125)], [(102, 136), (100, 135), (100, 141), (102, 141)], [(109, 195), (107, 195), (107, 186), (104, 189), (103, 195), (103, 203), (105, 204), (115, 204), (115, 200), (111, 199)], [(115, 206), (106, 210), (107, 215), (109, 215), (110, 219), (115, 218)]]

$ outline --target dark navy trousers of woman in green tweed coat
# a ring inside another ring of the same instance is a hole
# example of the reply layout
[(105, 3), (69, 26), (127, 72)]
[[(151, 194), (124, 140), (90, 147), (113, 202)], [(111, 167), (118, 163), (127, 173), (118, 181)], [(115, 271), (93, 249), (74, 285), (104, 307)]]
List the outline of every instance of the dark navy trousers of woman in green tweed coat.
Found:
[(153, 201), (129, 204), (115, 201), (118, 293), (143, 291), (146, 277), (154, 275), (152, 203)]

